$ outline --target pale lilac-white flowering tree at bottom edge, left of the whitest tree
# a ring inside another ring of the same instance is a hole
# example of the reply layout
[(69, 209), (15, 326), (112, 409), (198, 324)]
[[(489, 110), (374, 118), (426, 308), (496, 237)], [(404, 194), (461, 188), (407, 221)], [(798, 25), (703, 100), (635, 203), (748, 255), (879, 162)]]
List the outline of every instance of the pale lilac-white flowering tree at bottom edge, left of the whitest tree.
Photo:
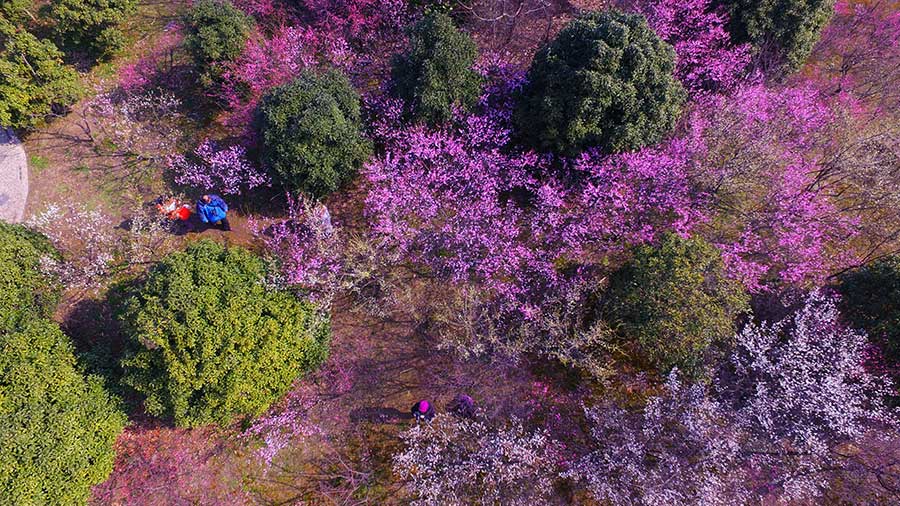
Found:
[(643, 412), (586, 408), (593, 450), (563, 473), (611, 504), (741, 504), (740, 434), (701, 385), (673, 371)]

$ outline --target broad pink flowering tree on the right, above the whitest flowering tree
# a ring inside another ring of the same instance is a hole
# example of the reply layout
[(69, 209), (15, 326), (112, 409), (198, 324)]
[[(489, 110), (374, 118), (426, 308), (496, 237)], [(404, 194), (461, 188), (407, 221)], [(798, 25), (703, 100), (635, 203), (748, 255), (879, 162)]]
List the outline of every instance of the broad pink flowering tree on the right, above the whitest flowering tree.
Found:
[(849, 178), (826, 163), (835, 111), (809, 85), (750, 85), (689, 118), (687, 135), (704, 147), (692, 179), (715, 209), (704, 233), (751, 290), (819, 284), (858, 261), (846, 244), (859, 215), (836, 198)]

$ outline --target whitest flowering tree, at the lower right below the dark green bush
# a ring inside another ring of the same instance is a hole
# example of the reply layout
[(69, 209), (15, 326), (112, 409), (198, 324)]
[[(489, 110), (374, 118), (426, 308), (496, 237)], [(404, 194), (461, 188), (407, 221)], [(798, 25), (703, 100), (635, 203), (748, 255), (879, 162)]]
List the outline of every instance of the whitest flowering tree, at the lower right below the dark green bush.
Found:
[(836, 453), (875, 426), (894, 426), (884, 405), (886, 378), (866, 371), (862, 332), (842, 325), (837, 298), (812, 292), (800, 310), (777, 323), (747, 324), (730, 366), (716, 382), (747, 433), (745, 453), (760, 470), (779, 470), (786, 498), (816, 497)]

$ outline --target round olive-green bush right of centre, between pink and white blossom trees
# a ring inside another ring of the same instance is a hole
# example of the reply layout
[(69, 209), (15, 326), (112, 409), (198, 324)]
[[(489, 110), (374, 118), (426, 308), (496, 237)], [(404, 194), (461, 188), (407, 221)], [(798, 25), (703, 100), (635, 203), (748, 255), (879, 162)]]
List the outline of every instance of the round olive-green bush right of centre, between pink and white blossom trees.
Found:
[(725, 276), (714, 246), (668, 234), (655, 247), (639, 247), (612, 276), (604, 314), (661, 373), (677, 366), (698, 376), (707, 349), (730, 339), (748, 309), (749, 297)]

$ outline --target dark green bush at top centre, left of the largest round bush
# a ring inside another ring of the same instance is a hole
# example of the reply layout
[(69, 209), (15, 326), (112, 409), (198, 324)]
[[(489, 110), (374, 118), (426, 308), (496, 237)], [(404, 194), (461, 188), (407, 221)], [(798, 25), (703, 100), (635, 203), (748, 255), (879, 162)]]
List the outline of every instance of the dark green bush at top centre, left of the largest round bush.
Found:
[(481, 76), (472, 70), (477, 57), (475, 42), (450, 16), (428, 14), (409, 30), (409, 51), (394, 58), (393, 92), (412, 105), (417, 120), (447, 122), (454, 106), (478, 101)]

